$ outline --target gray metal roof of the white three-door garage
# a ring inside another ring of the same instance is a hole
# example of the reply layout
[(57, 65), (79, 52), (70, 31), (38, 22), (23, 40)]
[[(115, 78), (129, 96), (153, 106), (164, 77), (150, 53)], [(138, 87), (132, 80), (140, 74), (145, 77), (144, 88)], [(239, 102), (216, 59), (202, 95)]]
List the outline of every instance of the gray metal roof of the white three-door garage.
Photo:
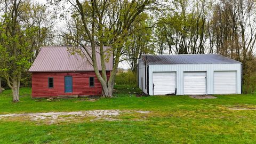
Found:
[(141, 57), (143, 60), (147, 60), (149, 65), (241, 63), (220, 54), (145, 54), (141, 55)]

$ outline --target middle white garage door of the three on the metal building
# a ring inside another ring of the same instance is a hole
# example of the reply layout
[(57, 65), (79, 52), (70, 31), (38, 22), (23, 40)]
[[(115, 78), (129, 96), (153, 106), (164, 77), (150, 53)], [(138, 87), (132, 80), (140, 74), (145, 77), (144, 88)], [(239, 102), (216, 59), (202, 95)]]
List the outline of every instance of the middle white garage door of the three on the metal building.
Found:
[(183, 85), (184, 94), (206, 94), (206, 73), (185, 72)]

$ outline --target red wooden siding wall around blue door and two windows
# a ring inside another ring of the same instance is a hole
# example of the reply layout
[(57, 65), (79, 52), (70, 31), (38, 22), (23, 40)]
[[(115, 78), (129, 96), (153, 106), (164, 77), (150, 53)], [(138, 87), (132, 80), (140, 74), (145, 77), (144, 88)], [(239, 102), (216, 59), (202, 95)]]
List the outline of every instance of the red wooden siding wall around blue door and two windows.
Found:
[[(107, 71), (109, 77), (110, 71)], [(73, 77), (73, 92), (65, 93), (65, 76)], [(48, 87), (48, 78), (53, 77), (53, 88)], [(94, 77), (90, 87), (89, 77)], [(101, 95), (102, 87), (94, 71), (56, 72), (32, 74), (32, 98), (57, 97), (58, 95)]]

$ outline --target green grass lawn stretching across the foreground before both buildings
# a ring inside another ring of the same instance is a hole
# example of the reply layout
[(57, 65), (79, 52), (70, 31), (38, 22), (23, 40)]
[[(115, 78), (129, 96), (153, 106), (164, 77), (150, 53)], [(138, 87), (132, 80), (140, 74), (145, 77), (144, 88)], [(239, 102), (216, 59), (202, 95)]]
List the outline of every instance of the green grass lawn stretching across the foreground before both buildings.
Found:
[[(11, 91), (0, 94), (0, 114), (84, 111), (100, 109), (147, 110), (122, 114), (118, 121), (90, 118), (48, 124), (22, 118), (0, 119), (0, 143), (255, 143), (256, 94), (217, 95), (217, 99), (187, 96), (135, 97), (117, 87), (115, 98), (47, 101), (30, 99), (22, 88), (19, 103)], [(233, 109), (232, 109), (233, 108)], [(243, 109), (243, 110), (239, 110)]]

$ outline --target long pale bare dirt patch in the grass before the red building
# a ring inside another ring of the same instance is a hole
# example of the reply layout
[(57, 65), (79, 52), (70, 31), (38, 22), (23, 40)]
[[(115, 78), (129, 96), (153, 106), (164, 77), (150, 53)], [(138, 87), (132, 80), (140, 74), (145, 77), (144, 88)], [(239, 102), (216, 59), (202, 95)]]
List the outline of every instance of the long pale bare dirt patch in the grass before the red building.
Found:
[(148, 114), (150, 111), (142, 110), (87, 110), (73, 112), (49, 112), (49, 113), (27, 113), (27, 114), (6, 114), (0, 115), (0, 119), (9, 121), (35, 121), (54, 124), (71, 121), (121, 121), (119, 115), (125, 114)]

